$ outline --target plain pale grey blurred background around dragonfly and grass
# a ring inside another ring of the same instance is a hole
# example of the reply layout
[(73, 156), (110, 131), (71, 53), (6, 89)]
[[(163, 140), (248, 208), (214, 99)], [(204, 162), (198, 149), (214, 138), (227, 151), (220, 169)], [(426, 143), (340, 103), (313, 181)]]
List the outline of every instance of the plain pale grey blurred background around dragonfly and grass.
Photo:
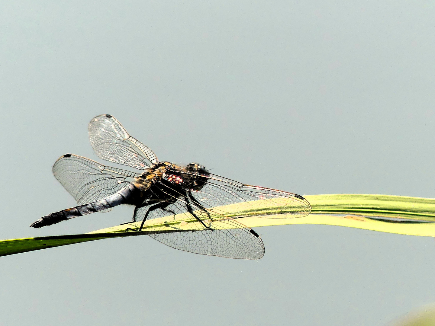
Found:
[[(118, 207), (29, 224), (74, 199), (51, 174), (97, 159), (117, 117), (161, 160), (304, 194), (435, 197), (432, 1), (0, 4), (0, 239), (84, 233)], [(385, 325), (435, 301), (432, 238), (257, 228), (258, 261), (145, 237), (0, 259), (7, 325)]]

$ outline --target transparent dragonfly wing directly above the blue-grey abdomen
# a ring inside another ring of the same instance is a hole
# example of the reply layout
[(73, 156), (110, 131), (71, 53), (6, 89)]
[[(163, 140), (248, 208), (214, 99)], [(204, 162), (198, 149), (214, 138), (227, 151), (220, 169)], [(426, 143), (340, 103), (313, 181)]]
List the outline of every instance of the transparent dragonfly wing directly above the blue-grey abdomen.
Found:
[(53, 165), (53, 173), (80, 205), (116, 193), (138, 175), (74, 154), (60, 157)]

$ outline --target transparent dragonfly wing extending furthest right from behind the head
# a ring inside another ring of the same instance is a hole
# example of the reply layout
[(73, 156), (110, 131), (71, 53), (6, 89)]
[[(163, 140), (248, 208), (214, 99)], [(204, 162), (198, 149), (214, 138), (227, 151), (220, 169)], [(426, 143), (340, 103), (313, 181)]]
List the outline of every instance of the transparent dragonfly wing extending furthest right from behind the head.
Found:
[[(233, 218), (248, 215), (268, 218), (295, 218), (307, 216), (311, 213), (311, 205), (308, 200), (298, 194), (260, 186), (244, 185), (214, 174), (205, 175), (185, 171), (180, 169), (176, 172), (181, 175), (185, 173), (207, 178), (207, 182), (201, 190), (192, 190), (191, 193), (205, 208), (213, 208), (213, 211), (223, 215)], [(244, 203), (244, 205), (224, 206), (238, 203)], [(239, 212), (238, 210), (241, 209), (242, 211)]]

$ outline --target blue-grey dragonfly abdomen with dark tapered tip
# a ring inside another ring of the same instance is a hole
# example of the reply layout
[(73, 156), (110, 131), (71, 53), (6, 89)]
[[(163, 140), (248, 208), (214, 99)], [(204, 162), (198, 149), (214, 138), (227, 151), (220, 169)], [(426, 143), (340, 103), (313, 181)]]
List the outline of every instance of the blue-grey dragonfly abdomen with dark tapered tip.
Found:
[(137, 188), (133, 183), (122, 188), (118, 192), (104, 199), (94, 201), (89, 204), (79, 205), (76, 207), (61, 210), (59, 212), (50, 213), (47, 216), (41, 217), (39, 220), (30, 224), (34, 228), (40, 228), (47, 225), (52, 225), (65, 220), (70, 220), (77, 216), (83, 216), (90, 213), (107, 210), (121, 204), (135, 204), (142, 195), (142, 190)]

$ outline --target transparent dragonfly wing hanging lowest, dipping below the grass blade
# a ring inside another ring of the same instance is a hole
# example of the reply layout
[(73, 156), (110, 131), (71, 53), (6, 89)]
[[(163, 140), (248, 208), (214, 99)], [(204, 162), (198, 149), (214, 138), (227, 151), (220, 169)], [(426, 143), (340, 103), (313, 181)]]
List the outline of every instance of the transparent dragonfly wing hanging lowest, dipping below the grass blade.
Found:
[[(148, 218), (157, 218), (169, 214), (187, 213), (187, 205), (192, 204), (185, 196), (180, 196), (177, 202), (167, 206), (165, 210), (151, 211)], [(137, 216), (143, 219), (147, 207), (138, 210)], [(194, 206), (194, 213), (201, 220), (197, 221), (190, 215), (184, 228), (174, 230), (179, 232), (158, 233), (150, 236), (175, 249), (199, 253), (202, 255), (220, 256), (238, 259), (260, 259), (264, 255), (264, 244), (254, 231), (226, 216), (211, 217), (207, 211)], [(171, 217), (169, 217), (171, 220)], [(188, 230), (185, 230), (185, 228)]]

